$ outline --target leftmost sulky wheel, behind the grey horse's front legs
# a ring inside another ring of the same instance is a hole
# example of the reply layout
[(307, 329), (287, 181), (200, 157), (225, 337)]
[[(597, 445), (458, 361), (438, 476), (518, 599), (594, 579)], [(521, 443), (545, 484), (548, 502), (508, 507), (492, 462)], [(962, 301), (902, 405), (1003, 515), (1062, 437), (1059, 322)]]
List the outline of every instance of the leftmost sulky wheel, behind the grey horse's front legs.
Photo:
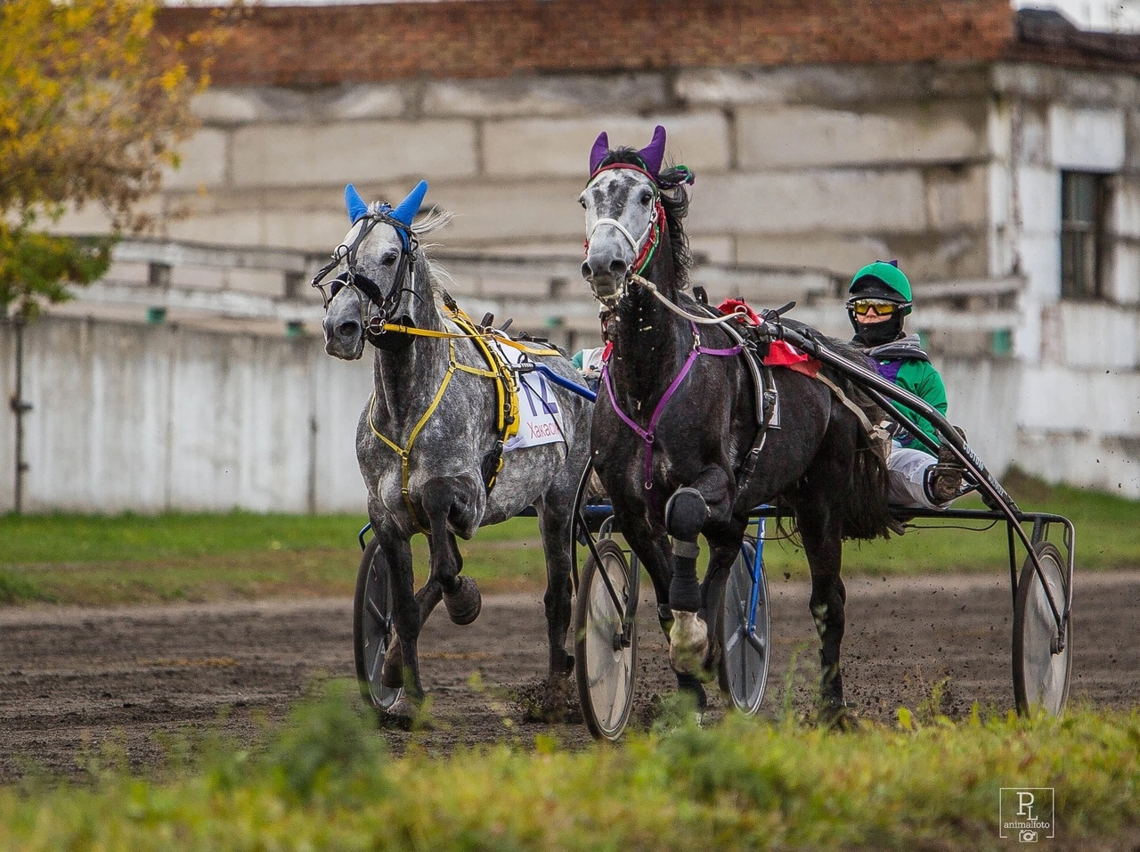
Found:
[(360, 695), (376, 709), (386, 711), (399, 700), (404, 690), (385, 687), (380, 680), (384, 657), (396, 636), (396, 625), (392, 623), (391, 579), (377, 545), (378, 541), (373, 537), (360, 559), (352, 606), (352, 647)]

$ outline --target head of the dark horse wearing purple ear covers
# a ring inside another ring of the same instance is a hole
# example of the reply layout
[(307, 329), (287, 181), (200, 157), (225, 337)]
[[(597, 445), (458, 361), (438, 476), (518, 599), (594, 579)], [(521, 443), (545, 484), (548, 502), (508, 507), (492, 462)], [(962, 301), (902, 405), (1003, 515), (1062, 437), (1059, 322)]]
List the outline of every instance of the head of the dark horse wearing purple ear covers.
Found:
[[(673, 214), (669, 238), (683, 241), (676, 224), (684, 216), (687, 200), (673, 198), (662, 190), (692, 182), (692, 172), (683, 165), (661, 170), (665, 157), (665, 128), (653, 131), (652, 141), (640, 151), (610, 151), (609, 137), (601, 133), (589, 154), (589, 182), (578, 197), (586, 210), (586, 260), (581, 275), (594, 295), (608, 305), (621, 298), (635, 274), (649, 267), (667, 230), (667, 214)], [(679, 246), (678, 259), (687, 262), (687, 250)]]

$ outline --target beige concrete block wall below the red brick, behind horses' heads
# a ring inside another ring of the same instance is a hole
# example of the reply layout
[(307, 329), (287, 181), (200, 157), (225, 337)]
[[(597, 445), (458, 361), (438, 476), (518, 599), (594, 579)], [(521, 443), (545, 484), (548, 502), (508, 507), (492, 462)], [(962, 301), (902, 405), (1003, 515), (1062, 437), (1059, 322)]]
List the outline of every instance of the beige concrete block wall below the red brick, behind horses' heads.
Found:
[(324, 251), (347, 230), (344, 184), (398, 201), (426, 178), (457, 214), (447, 248), (575, 258), (594, 138), (642, 146), (660, 122), (697, 173), (689, 233), (711, 259), (844, 274), (897, 257), (919, 281), (977, 277), (986, 73), (853, 66), (839, 91), (822, 66), (213, 88), (157, 203), (173, 238)]

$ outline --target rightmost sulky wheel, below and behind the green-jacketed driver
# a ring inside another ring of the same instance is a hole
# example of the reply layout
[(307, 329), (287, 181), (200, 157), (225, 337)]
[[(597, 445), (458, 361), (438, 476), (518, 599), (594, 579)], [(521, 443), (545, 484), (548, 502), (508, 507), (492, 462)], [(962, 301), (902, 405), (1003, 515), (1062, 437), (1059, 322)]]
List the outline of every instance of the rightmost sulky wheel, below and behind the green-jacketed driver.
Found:
[(1049, 599), (1052, 598), (1058, 612), (1065, 612), (1066, 563), (1057, 546), (1049, 542), (1039, 543), (1036, 553), (1049, 594), (1033, 568), (1033, 560), (1026, 559), (1013, 604), (1013, 697), (1021, 715), (1028, 714), (1031, 707), (1044, 707), (1057, 716), (1065, 711), (1068, 699), (1073, 619), (1066, 622), (1065, 648), (1058, 650), (1057, 619)]

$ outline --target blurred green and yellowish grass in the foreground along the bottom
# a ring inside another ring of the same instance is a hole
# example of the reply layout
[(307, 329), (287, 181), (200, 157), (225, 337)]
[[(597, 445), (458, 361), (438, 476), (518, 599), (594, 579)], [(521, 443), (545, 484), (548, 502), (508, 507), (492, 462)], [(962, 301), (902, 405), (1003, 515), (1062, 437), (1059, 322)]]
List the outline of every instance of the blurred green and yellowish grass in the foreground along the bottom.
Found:
[(899, 719), (839, 735), (733, 714), (620, 748), (539, 736), (393, 758), (355, 684), (333, 683), (263, 746), (207, 737), (153, 779), (112, 752), (90, 784), (0, 788), (0, 850), (997, 850), (1017, 844), (1002, 787), (1052, 787), (1066, 849), (1131, 849), (1140, 714)]

